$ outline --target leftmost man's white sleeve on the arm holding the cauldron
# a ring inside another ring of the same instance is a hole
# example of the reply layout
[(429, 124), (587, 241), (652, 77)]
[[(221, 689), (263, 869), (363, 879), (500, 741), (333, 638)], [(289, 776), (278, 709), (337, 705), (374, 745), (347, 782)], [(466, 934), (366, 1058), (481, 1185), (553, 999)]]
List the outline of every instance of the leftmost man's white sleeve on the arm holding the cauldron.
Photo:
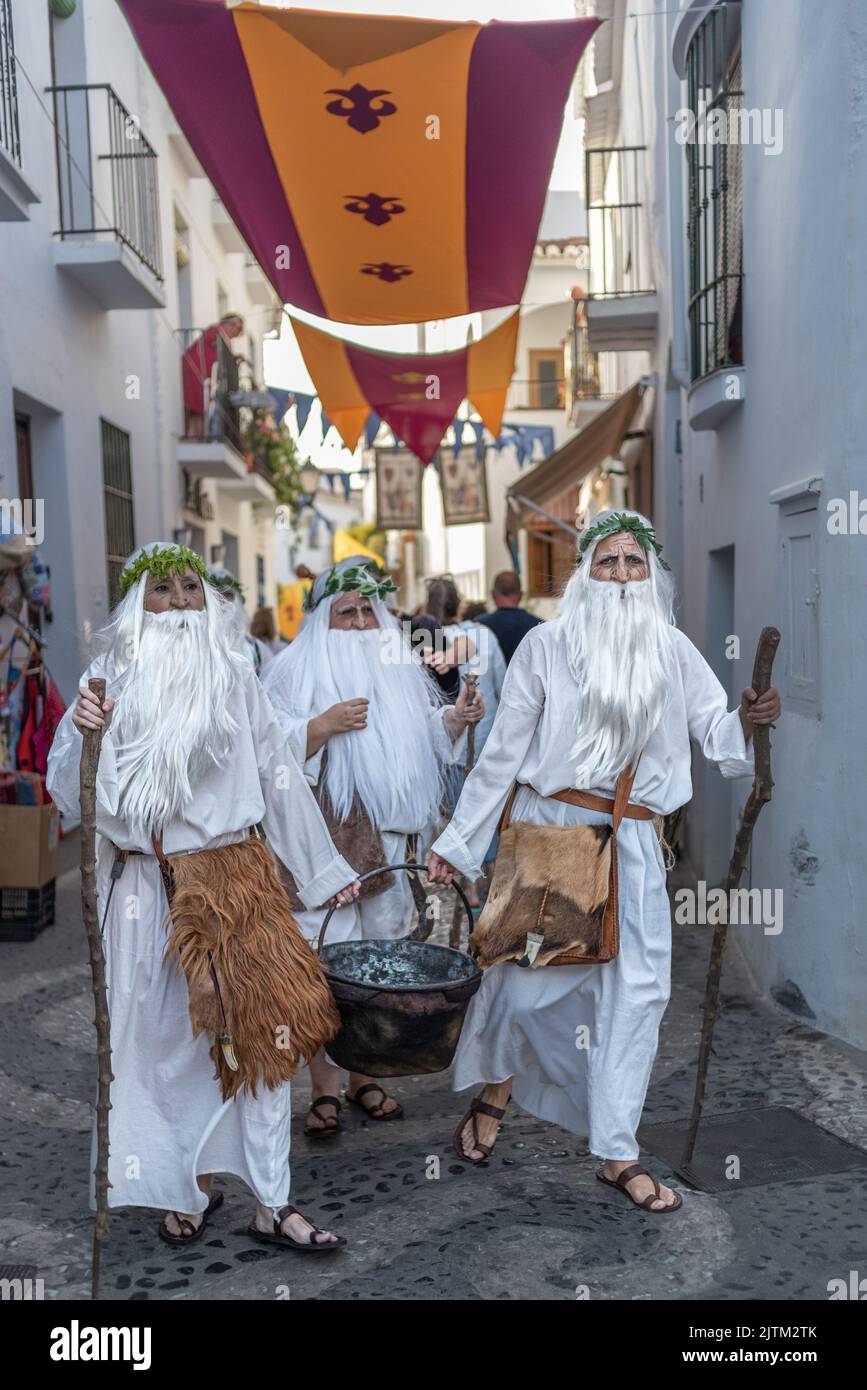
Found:
[(268, 844), (292, 873), (304, 906), (321, 908), (353, 883), (357, 873), (335, 849), (315, 796), (251, 671), (245, 681), (245, 695), (265, 802), (263, 826)]

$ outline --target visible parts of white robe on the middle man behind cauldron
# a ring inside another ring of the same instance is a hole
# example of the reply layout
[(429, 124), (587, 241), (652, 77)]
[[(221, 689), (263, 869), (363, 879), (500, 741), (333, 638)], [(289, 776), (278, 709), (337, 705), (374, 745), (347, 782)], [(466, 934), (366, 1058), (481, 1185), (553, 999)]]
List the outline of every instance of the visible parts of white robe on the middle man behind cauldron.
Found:
[[(432, 756), (439, 758), (443, 763), (457, 762), (467, 746), (465, 733), (453, 741), (443, 723), (443, 716), (449, 708), (447, 705), (440, 705), (429, 714), (434, 735)], [(299, 767), (304, 770), (304, 777), (311, 787), (318, 785), (322, 776), (325, 745), (311, 758), (307, 758), (307, 726), (321, 710), (311, 709), (308, 713), (290, 714), (288, 710), (276, 709), (275, 713), (286, 742), (297, 759)], [(418, 858), (421, 860), (425, 847), (435, 833), (435, 827), (432, 826), (413, 826), (408, 816), (397, 826), (377, 826), (377, 830), (382, 838), (385, 862), (389, 865), (406, 862), (407, 835), (418, 835)], [(411, 916), (413, 894), (410, 876), (396, 873), (395, 883), (385, 892), (378, 894), (375, 898), (363, 898), (360, 902), (350, 902), (343, 908), (336, 908), (328, 923), (325, 941), (395, 941), (397, 937), (407, 935)], [(296, 920), (308, 941), (318, 940), (324, 917), (324, 912), (315, 910), (296, 913)]]

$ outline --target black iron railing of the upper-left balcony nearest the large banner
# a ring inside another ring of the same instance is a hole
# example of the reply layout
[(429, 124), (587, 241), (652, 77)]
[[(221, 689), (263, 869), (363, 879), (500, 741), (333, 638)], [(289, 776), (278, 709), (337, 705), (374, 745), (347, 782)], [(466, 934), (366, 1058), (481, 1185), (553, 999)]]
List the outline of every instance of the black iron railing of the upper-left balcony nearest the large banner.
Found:
[(157, 152), (108, 83), (50, 86), (63, 239), (115, 236), (163, 279)]

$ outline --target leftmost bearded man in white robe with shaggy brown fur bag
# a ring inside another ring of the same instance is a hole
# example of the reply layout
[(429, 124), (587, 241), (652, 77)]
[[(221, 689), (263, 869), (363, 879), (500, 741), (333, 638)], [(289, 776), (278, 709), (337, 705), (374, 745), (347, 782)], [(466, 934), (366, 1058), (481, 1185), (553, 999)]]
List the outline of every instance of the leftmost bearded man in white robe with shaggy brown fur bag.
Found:
[[(336, 1250), (345, 1241), (288, 1205), (288, 1155), (289, 1077), (339, 1020), (254, 827), (311, 908), (352, 901), (356, 872), (204, 577), (200, 557), (171, 542), (131, 556), (49, 756), (49, 790), (78, 817), (82, 733), (103, 730), (108, 1200), (165, 1211), (160, 1237), (189, 1244), (222, 1202), (211, 1175), (235, 1173), (257, 1200), (250, 1236)], [(107, 681), (101, 708), (92, 676)]]

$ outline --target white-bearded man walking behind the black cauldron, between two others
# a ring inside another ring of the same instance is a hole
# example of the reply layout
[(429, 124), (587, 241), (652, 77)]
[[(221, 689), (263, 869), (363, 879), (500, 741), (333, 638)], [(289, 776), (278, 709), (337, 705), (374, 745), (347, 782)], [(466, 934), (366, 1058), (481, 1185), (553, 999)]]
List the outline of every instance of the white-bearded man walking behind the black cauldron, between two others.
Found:
[[(385, 606), (393, 589), (363, 556), (320, 574), (299, 635), (263, 681), (332, 837), (358, 870), (403, 863), (407, 835), (431, 833), (440, 815), (443, 766), (457, 760), (467, 726), (485, 713), (481, 696), (468, 701), (465, 689), (456, 705), (442, 703)], [(372, 878), (356, 903), (335, 912), (328, 941), (403, 937), (411, 910), (407, 874), (395, 874), (388, 887)], [(315, 940), (322, 913), (300, 912), (297, 920)], [(321, 1052), (310, 1074), (307, 1133), (335, 1134), (340, 1072)], [(361, 1073), (350, 1074), (346, 1098), (374, 1120), (403, 1113)]]

